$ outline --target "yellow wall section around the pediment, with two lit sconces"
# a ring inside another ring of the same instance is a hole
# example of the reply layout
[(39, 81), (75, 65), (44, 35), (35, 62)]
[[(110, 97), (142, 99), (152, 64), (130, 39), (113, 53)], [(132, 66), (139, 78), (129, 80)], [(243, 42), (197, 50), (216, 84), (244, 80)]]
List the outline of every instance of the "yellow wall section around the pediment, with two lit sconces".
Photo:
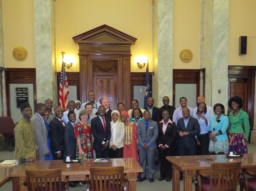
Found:
[(79, 71), (78, 45), (72, 37), (95, 27), (107, 24), (129, 34), (138, 40), (131, 47), (131, 72), (145, 72), (139, 69), (136, 58), (147, 58), (152, 71), (152, 0), (62, 0), (56, 1), (56, 57), (57, 71), (61, 70), (61, 52), (73, 60), (74, 65), (66, 71)]

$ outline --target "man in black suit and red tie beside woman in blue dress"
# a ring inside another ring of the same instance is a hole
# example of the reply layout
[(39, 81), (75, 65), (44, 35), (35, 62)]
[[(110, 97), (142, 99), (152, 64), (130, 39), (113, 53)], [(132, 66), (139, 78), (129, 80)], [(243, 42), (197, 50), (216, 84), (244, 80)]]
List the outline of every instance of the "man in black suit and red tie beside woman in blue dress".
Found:
[(55, 117), (50, 122), (50, 140), (51, 140), (51, 152), (54, 160), (62, 160), (63, 151), (65, 150), (64, 143), (64, 126), (65, 123), (61, 120), (63, 116), (63, 110), (61, 107), (54, 109)]

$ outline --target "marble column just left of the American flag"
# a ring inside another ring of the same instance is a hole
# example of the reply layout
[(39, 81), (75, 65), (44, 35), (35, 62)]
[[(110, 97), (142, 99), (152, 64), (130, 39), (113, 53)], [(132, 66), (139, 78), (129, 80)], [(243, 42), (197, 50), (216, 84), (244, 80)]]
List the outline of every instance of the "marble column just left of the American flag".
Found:
[(54, 100), (54, 3), (34, 0), (37, 103), (44, 103), (48, 98)]

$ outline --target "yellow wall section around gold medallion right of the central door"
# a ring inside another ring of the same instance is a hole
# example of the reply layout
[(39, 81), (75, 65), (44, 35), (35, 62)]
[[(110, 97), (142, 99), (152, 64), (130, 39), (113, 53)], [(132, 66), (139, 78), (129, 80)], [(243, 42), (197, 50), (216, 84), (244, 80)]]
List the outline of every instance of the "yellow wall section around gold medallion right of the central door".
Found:
[[(201, 0), (173, 1), (173, 69), (200, 69)], [(183, 49), (191, 50), (189, 63), (180, 60)]]

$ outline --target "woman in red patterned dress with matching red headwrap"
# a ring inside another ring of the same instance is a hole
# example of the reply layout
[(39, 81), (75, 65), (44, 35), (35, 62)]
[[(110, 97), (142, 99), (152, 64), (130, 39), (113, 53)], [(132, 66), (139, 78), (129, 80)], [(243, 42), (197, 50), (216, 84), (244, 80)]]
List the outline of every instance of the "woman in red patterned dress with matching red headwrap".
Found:
[(125, 126), (123, 158), (134, 158), (139, 163), (137, 126), (134, 122), (128, 121), (129, 115), (127, 111), (122, 111), (120, 116)]

